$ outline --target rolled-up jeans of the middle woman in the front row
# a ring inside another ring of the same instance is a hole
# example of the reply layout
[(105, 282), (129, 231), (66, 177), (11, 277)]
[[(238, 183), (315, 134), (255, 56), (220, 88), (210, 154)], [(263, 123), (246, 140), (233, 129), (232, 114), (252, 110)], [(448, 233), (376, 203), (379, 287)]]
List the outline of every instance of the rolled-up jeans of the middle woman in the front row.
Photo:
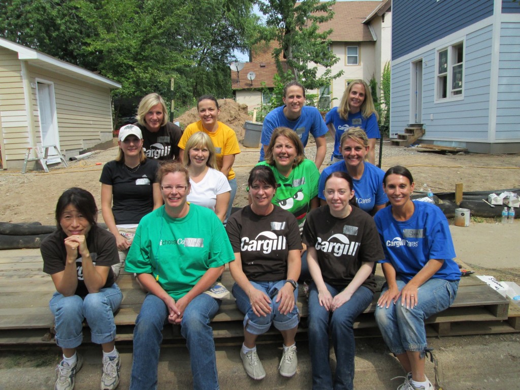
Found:
[(251, 334), (264, 334), (271, 327), (271, 323), (274, 324), (278, 330), (289, 330), (294, 329), (300, 322), (300, 314), (296, 307), (296, 299), (298, 297), (298, 289), (294, 290), (294, 307), (287, 314), (281, 314), (279, 307), (280, 302), (276, 303), (276, 296), (278, 291), (284, 286), (285, 279), (275, 282), (253, 282), (253, 287), (257, 290), (264, 292), (271, 298), (271, 313), (266, 317), (257, 316), (249, 301), (249, 296), (235, 283), (231, 290), (233, 296), (237, 300), (238, 309), (245, 315), (244, 316), (244, 328)]

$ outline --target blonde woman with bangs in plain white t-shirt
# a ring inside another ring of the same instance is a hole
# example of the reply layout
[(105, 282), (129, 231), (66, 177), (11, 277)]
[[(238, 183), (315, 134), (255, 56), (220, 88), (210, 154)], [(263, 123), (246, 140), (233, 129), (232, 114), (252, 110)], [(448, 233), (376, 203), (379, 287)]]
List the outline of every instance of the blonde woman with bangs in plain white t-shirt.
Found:
[(191, 184), (188, 202), (213, 210), (224, 222), (231, 187), (226, 176), (217, 170), (213, 142), (207, 134), (197, 132), (188, 139), (185, 150)]

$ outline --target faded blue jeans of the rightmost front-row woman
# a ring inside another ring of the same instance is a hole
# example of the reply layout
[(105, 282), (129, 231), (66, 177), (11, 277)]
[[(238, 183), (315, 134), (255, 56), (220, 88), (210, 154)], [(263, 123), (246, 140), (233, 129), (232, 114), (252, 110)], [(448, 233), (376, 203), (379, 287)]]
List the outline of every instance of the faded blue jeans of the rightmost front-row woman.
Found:
[[(399, 291), (405, 285), (404, 281), (397, 280)], [(401, 298), (388, 308), (376, 307), (375, 321), (391, 352), (396, 355), (404, 354), (407, 350), (421, 352), (422, 358), (427, 346), (424, 320), (447, 309), (453, 303), (458, 288), (458, 280), (430, 279), (419, 287), (419, 304), (413, 309), (401, 306)], [(387, 285), (381, 293), (386, 290)]]

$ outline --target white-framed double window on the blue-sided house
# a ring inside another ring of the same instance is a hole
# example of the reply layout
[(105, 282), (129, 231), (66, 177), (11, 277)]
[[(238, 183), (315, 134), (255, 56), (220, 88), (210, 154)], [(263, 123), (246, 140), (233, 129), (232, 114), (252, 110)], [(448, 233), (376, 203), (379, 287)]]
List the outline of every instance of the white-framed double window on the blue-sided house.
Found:
[[(457, 58), (462, 46), (462, 60)], [(465, 40), (437, 49), (435, 54), (435, 102), (462, 100), (464, 98)], [(456, 74), (457, 73), (457, 74)], [(456, 79), (456, 77), (458, 77)], [(445, 90), (446, 96), (443, 96)]]

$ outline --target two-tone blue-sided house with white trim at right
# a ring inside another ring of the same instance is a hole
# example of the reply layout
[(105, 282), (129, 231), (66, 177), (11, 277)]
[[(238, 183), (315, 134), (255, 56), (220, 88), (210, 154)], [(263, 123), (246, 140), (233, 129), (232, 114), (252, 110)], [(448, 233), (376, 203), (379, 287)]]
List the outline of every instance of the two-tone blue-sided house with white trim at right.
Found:
[(520, 152), (520, 1), (393, 0), (390, 132)]

